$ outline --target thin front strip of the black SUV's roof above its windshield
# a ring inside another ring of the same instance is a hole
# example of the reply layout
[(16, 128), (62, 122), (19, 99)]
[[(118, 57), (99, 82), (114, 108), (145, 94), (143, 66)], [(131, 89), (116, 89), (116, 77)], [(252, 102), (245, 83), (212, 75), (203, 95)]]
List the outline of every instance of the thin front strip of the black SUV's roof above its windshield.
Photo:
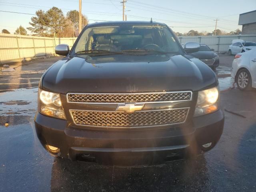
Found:
[(164, 25), (164, 23), (159, 23), (159, 22), (150, 22), (150, 21), (106, 21), (106, 22), (95, 22), (92, 24), (88, 24), (88, 26), (110, 26), (110, 25), (125, 25), (125, 24), (130, 24), (130, 25)]

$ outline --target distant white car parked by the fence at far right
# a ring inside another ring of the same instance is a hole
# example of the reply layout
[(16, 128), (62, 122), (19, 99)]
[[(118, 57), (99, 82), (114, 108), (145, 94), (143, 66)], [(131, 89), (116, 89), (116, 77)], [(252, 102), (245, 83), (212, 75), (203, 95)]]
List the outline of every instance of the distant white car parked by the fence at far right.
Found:
[(234, 42), (228, 47), (228, 54), (238, 54), (256, 48), (255, 42)]

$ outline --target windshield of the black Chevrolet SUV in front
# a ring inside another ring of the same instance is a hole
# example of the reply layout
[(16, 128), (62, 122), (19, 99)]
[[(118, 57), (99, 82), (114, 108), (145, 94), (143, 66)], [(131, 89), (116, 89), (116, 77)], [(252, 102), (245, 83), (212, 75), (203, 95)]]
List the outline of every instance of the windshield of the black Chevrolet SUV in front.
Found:
[(182, 53), (166, 26), (120, 25), (87, 28), (76, 45), (76, 54), (157, 51)]

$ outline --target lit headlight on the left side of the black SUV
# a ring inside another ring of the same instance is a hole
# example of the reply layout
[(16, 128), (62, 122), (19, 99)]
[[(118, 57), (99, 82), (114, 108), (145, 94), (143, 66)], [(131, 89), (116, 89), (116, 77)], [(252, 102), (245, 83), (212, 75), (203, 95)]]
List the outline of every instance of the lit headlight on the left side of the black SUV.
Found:
[(55, 118), (66, 119), (60, 94), (38, 90), (38, 111), (41, 114)]

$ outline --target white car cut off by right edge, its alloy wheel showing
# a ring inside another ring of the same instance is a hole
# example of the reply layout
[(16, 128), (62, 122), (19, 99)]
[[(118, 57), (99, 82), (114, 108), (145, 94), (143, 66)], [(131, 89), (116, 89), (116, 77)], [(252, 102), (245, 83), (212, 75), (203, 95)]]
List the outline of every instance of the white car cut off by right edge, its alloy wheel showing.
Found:
[(256, 88), (256, 49), (236, 54), (231, 77), (240, 90)]

